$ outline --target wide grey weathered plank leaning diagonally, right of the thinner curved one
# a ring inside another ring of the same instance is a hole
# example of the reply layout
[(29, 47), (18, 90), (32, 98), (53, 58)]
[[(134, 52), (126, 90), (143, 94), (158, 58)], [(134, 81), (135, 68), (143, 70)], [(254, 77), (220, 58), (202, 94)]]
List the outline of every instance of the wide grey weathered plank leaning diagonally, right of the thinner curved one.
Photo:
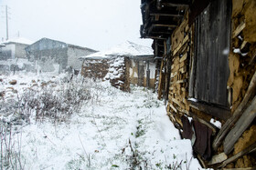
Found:
[(256, 96), (251, 102), (251, 105), (244, 111), (240, 116), (239, 121), (236, 123), (234, 128), (229, 132), (224, 140), (224, 152), (229, 154), (235, 143), (239, 140), (243, 132), (251, 125), (251, 122), (256, 117)]

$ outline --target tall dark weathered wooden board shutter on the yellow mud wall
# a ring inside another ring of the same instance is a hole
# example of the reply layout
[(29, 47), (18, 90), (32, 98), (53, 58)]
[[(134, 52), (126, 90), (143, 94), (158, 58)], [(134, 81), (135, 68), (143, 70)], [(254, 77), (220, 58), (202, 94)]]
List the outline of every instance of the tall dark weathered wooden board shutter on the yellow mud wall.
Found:
[(199, 101), (226, 107), (229, 61), (223, 51), (229, 49), (230, 3), (230, 0), (212, 1), (197, 18), (196, 82), (190, 92)]

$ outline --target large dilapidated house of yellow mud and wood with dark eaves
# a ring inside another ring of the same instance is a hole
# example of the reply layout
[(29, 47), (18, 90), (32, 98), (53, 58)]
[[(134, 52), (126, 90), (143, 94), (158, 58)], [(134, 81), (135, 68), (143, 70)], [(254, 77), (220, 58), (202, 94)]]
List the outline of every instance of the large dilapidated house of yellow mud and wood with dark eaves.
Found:
[(255, 169), (256, 1), (142, 0), (158, 98), (203, 167)]

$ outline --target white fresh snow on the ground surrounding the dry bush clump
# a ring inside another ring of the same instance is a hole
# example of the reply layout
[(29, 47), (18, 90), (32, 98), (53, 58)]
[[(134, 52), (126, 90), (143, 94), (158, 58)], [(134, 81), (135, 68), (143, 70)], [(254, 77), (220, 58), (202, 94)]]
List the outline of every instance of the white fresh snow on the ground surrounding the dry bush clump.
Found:
[[(37, 93), (47, 87), (59, 92), (69, 86), (70, 75), (0, 75), (0, 92), (5, 100), (22, 96), (27, 90)], [(8, 82), (16, 80), (16, 85)], [(73, 77), (75, 88), (85, 85), (91, 99), (74, 112), (69, 121), (36, 122), (17, 126), (13, 138), (21, 141), (21, 162), (25, 169), (202, 169), (193, 158), (190, 140), (181, 139), (166, 115), (165, 105), (144, 87), (132, 86), (124, 93), (109, 82), (93, 82)], [(66, 81), (67, 82), (67, 81)], [(69, 81), (68, 81), (69, 82)], [(7, 92), (8, 89), (12, 91)], [(16, 92), (14, 92), (16, 90)], [(0, 97), (0, 101), (3, 98)], [(0, 113), (1, 121), (10, 121)], [(134, 154), (134, 155), (133, 155)], [(182, 162), (181, 162), (182, 161)]]

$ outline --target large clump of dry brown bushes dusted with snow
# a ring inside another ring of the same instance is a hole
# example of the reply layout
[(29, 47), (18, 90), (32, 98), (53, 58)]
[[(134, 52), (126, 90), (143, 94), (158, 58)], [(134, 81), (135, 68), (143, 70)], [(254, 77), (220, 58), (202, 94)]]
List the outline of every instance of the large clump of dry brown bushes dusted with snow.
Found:
[(27, 115), (35, 115), (37, 121), (50, 118), (53, 122), (68, 121), (73, 113), (80, 112), (83, 102), (91, 99), (88, 85), (63, 78), (61, 85), (56, 89), (49, 84), (38, 93), (28, 90), (22, 96), (22, 105)]

